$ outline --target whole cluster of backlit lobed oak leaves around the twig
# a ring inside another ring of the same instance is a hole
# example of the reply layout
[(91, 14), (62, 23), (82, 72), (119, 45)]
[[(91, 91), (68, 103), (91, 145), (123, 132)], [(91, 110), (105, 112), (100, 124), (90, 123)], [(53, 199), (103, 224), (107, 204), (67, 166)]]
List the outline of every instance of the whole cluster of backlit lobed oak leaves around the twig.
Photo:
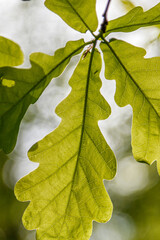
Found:
[(89, 45), (69, 81), (71, 93), (56, 109), (62, 119), (59, 127), (29, 150), (30, 160), (40, 163), (39, 167), (15, 187), (17, 199), (31, 201), (23, 223), (27, 229), (37, 229), (38, 240), (87, 240), (93, 220), (105, 222), (111, 217), (112, 203), (103, 179), (112, 179), (116, 173), (114, 154), (98, 127), (98, 120), (111, 113), (100, 94), (99, 42), (105, 77), (116, 80), (116, 103), (133, 108), (133, 155), (148, 164), (156, 160), (160, 173), (160, 58), (145, 59), (144, 49), (105, 38), (160, 24), (160, 3), (147, 12), (136, 7), (118, 19), (104, 21), (107, 29), (105, 33), (100, 29), (98, 35), (94, 34), (96, 0), (46, 0), (45, 5), (75, 30), (90, 31), (92, 40), (70, 41), (54, 56), (33, 53), (31, 68), (20, 69), (15, 68), (23, 62), (19, 46), (0, 37), (0, 148), (5, 153), (13, 150), (29, 105)]

